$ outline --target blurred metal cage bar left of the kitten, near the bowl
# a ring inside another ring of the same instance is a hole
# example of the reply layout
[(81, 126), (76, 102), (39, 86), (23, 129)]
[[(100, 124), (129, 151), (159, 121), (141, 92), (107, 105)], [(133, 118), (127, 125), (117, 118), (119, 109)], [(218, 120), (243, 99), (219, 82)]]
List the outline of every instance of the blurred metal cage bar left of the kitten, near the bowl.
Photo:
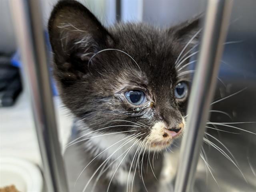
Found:
[(48, 192), (67, 192), (64, 163), (52, 101), (40, 2), (10, 1), (16, 37), (22, 54), (25, 81), (29, 87), (34, 123)]

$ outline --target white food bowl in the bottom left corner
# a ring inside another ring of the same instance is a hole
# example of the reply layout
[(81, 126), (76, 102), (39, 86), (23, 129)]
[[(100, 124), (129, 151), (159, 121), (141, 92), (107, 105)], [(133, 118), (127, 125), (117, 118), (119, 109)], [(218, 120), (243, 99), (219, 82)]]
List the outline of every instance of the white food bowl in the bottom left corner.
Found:
[(0, 157), (0, 188), (9, 185), (14, 185), (20, 192), (42, 192), (42, 174), (28, 160)]

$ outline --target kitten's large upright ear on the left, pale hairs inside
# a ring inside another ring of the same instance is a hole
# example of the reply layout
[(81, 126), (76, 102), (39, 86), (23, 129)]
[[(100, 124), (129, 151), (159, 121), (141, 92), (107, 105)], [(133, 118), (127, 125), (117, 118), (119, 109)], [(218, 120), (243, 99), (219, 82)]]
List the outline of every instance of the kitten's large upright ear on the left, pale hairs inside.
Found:
[(96, 17), (74, 0), (62, 0), (56, 4), (48, 31), (57, 67), (54, 73), (61, 81), (81, 78), (88, 72), (86, 61), (97, 51), (114, 44)]

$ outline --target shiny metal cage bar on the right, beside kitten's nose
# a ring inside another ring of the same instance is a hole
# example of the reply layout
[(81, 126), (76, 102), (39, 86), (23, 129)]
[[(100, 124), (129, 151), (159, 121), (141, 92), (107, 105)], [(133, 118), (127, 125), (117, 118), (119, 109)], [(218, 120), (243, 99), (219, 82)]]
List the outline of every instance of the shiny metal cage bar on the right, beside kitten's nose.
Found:
[(200, 55), (188, 103), (188, 130), (182, 139), (175, 192), (189, 192), (194, 186), (194, 174), (216, 87), (231, 9), (231, 0), (208, 1)]

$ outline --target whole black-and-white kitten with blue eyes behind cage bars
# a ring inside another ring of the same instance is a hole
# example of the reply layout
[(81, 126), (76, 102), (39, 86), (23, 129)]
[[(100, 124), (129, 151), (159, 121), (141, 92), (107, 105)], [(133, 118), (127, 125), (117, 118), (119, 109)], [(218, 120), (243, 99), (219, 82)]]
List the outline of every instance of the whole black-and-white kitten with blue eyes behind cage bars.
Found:
[(76, 1), (54, 7), (54, 76), (76, 117), (77, 138), (68, 146), (83, 151), (82, 191), (157, 191), (162, 152), (185, 127), (190, 77), (180, 65), (198, 41), (198, 23), (104, 28)]

